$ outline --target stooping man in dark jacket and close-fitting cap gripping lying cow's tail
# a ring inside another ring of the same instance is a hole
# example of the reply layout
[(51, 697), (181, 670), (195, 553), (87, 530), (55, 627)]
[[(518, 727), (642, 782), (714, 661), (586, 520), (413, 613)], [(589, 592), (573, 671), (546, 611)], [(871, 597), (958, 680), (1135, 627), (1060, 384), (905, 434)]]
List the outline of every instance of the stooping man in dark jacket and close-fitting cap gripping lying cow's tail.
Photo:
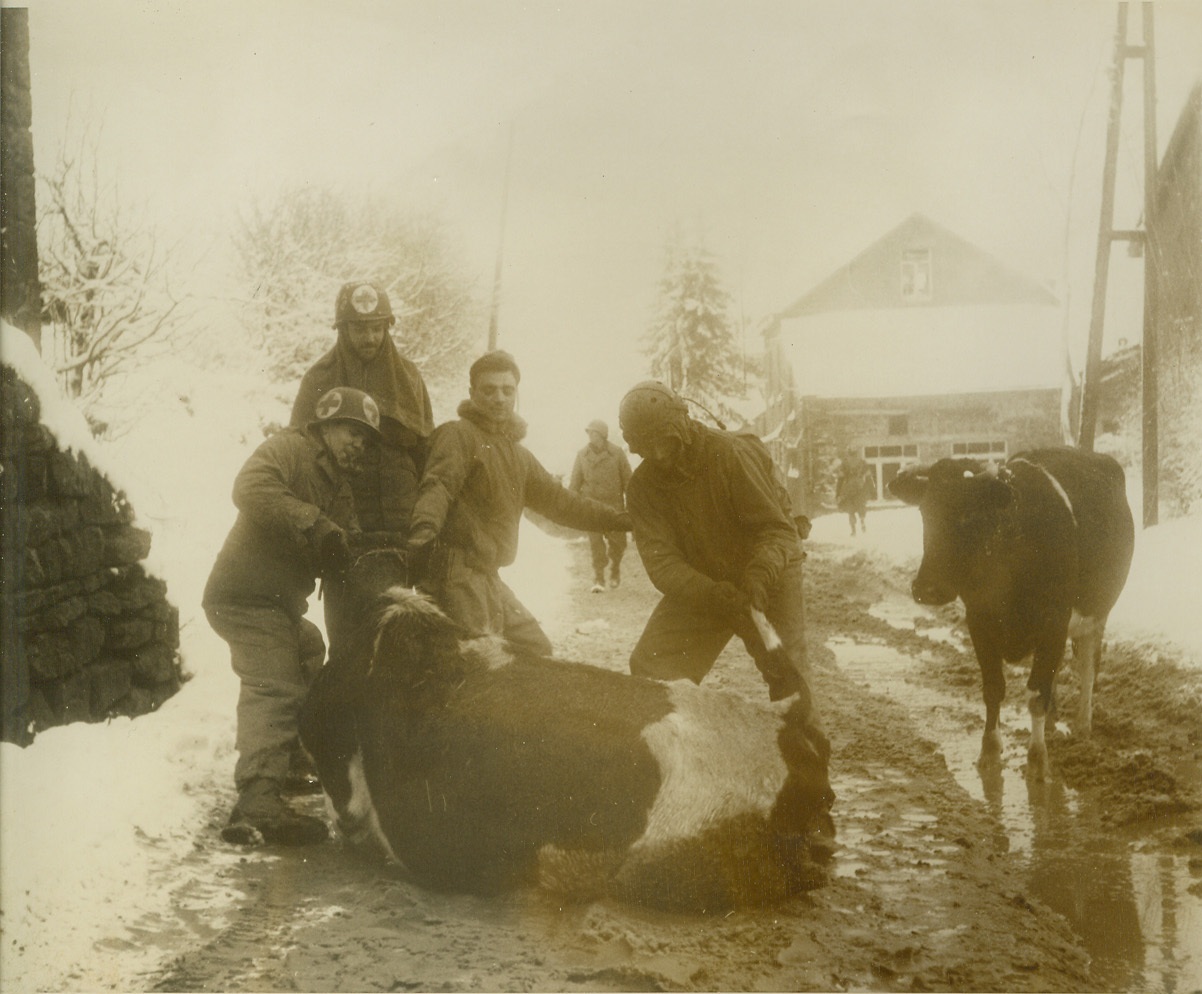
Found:
[[(673, 391), (651, 380), (623, 398), (619, 422), (630, 451), (643, 458), (626, 490), (635, 542), (664, 594), (631, 653), (630, 672), (700, 684), (738, 635), (769, 700), (799, 696), (826, 763), (831, 750), (805, 659), (805, 554), (768, 450), (754, 435), (692, 419)], [(783, 647), (766, 645), (752, 609), (767, 617)]]

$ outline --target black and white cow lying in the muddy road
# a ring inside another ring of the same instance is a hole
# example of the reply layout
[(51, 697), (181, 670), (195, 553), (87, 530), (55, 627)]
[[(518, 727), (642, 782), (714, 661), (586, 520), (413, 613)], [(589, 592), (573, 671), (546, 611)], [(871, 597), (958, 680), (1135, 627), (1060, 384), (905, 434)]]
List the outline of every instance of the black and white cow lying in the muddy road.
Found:
[(808, 831), (833, 832), (828, 757), (790, 701), (514, 654), (389, 585), (395, 555), (352, 570), (367, 621), (300, 719), (345, 838), (477, 893), (714, 911), (823, 881)]

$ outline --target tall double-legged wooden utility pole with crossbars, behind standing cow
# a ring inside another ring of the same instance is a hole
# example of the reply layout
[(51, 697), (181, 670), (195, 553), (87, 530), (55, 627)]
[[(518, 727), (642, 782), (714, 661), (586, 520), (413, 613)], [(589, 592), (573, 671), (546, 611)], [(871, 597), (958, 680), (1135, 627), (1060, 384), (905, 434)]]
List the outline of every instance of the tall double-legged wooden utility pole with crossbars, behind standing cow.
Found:
[[(1129, 242), (1143, 251), (1143, 524), (1156, 523), (1159, 502), (1158, 387), (1156, 387), (1156, 251), (1153, 226), (1156, 200), (1156, 71), (1153, 52), (1153, 5), (1144, 0), (1142, 44), (1127, 42), (1127, 5), (1118, 5), (1114, 32), (1114, 65), (1111, 72), (1111, 108), (1106, 126), (1106, 159), (1102, 165), (1102, 206), (1097, 225), (1097, 255), (1094, 264), (1094, 298), (1089, 316), (1089, 345), (1085, 353), (1085, 382), (1081, 397), (1078, 447), (1091, 452), (1097, 429), (1097, 406), (1102, 380), (1102, 332), (1106, 325), (1106, 286), (1109, 276), (1111, 245)], [(1114, 175), (1118, 165), (1119, 119), (1123, 109), (1123, 79), (1127, 59), (1143, 59), (1143, 230), (1114, 227)]]

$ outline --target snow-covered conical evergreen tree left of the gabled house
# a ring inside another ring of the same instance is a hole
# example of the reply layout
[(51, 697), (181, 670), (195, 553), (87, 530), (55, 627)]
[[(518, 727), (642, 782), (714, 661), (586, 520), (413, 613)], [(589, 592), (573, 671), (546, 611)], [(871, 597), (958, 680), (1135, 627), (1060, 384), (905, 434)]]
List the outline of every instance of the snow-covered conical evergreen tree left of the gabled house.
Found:
[(644, 334), (650, 374), (725, 419), (740, 419), (731, 400), (745, 397), (744, 359), (718, 262), (698, 238), (673, 232), (651, 323)]

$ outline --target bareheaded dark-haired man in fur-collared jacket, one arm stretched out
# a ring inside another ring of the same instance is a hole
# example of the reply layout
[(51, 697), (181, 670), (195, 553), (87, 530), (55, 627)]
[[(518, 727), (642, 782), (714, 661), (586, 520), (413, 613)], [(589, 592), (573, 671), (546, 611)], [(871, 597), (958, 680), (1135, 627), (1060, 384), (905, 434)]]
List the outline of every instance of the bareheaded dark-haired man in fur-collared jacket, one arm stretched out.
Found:
[(508, 352), (486, 352), (468, 379), (459, 419), (439, 425), (430, 440), (409, 536), (410, 579), (469, 631), (549, 655), (546, 633), (498, 575), (517, 556), (523, 510), (582, 531), (629, 530), (630, 518), (561, 487), (522, 445), (522, 373)]

